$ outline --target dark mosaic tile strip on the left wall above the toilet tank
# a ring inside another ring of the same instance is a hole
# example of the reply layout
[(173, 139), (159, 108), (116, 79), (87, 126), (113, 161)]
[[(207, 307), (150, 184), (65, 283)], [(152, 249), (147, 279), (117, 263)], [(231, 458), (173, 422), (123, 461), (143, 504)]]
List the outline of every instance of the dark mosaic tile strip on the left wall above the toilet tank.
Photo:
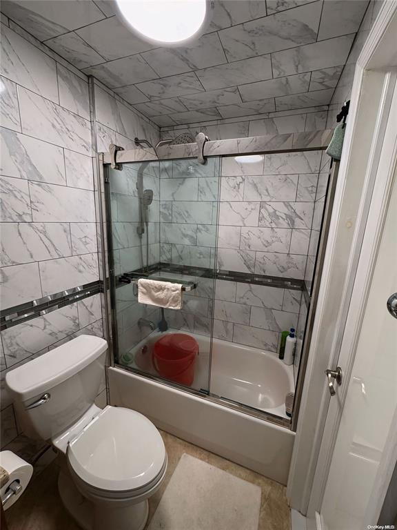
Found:
[(22, 322), (27, 322), (33, 318), (41, 317), (57, 309), (74, 304), (78, 300), (83, 300), (103, 292), (102, 282), (100, 280), (84, 284), (77, 287), (55, 293), (54, 295), (45, 296), (26, 304), (9, 307), (0, 312), (0, 330), (17, 326)]

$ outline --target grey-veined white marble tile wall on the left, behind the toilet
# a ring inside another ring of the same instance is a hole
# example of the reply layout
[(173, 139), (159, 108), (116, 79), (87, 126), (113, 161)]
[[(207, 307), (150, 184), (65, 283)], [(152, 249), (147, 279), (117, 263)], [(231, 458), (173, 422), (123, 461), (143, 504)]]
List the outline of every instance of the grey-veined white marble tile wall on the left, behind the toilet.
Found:
[[(0, 275), (6, 309), (99, 279), (93, 157), (111, 142), (129, 148), (135, 136), (155, 144), (159, 128), (99, 83), (91, 121), (88, 77), (6, 17), (1, 21)], [(137, 150), (136, 157), (147, 152)], [(158, 199), (155, 204), (158, 210)], [(122, 200), (120, 212), (121, 221), (130, 220)], [(79, 333), (103, 335), (100, 295), (1, 332), (2, 445), (20, 434), (4, 385), (7, 371)]]

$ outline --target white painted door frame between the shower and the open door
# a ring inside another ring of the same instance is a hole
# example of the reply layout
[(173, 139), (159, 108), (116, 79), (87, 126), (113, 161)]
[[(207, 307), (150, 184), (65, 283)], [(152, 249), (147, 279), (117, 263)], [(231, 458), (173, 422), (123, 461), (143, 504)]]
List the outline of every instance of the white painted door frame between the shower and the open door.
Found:
[[(374, 255), (382, 233), (379, 219), (385, 213), (385, 204), (387, 204), (387, 197), (385, 199), (384, 195), (387, 184), (384, 182), (382, 193), (376, 175), (396, 81), (395, 73), (389, 72), (390, 66), (397, 63), (395, 35), (397, 35), (397, 1), (386, 0), (356, 63), (352, 103), (340, 162), (334, 212), (329, 226), (323, 279), (318, 295), (317, 314), (287, 485), (289, 504), (292, 509), (307, 516), (307, 524), (312, 528), (319, 527), (320, 524), (318, 517), (316, 524), (316, 512), (320, 511), (347, 393), (347, 385), (342, 385), (334, 402), (331, 402), (325, 384), (324, 370), (334, 368), (340, 355), (353, 286), (358, 279), (356, 275), (363, 237), (365, 232), (371, 230), (374, 235), (371, 251), (365, 257), (361, 257), (365, 264), (363, 276), (360, 278), (363, 295), (361, 301), (365, 300)], [(389, 161), (389, 179), (393, 164), (392, 153), (393, 146)], [(376, 193), (373, 195), (375, 184)], [(356, 197), (355, 204), (352, 194)], [(371, 219), (369, 219), (370, 206), (371, 210), (375, 211)], [(340, 286), (336, 286), (335, 279), (339, 280)], [(362, 317), (361, 302), (361, 307), (358, 307), (356, 312), (356, 322), (349, 328), (349, 349), (345, 349), (347, 342), (344, 346), (345, 382), (349, 381), (352, 371), (354, 344), (358, 338), (357, 331), (360, 329)], [(325, 340), (325, 330), (331, 330), (326, 337), (327, 340)]]

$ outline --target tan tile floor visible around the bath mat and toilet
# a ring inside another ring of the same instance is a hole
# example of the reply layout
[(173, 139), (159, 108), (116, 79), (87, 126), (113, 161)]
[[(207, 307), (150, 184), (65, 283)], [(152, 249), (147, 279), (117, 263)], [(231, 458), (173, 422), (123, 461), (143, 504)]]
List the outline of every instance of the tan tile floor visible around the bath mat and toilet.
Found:
[[(150, 499), (149, 521), (156, 511), (181, 455), (187, 453), (261, 487), (262, 500), (258, 530), (289, 530), (289, 508), (285, 498), (285, 487), (281, 484), (164, 431), (161, 431), (161, 435), (167, 449), (168, 469), (161, 488)], [(57, 475), (57, 462), (54, 461), (34, 478), (23, 498), (6, 512), (8, 530), (80, 530), (63, 508), (58, 494)]]

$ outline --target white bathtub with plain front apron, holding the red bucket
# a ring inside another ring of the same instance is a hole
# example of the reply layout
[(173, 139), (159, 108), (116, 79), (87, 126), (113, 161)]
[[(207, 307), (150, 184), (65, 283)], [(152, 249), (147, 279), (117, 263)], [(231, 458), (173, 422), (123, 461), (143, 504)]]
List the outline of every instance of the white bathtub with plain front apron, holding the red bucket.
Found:
[[(200, 391), (208, 388), (210, 338), (189, 334), (199, 342), (192, 388)], [(154, 342), (161, 335), (151, 333), (123, 363), (157, 375), (151, 357)], [(294, 444), (294, 433), (289, 429), (119, 366), (110, 367), (108, 375), (110, 404), (139, 411), (159, 429), (287, 484)], [(213, 340), (211, 395), (286, 418), (285, 395), (293, 389), (292, 366), (285, 366), (274, 353)]]

